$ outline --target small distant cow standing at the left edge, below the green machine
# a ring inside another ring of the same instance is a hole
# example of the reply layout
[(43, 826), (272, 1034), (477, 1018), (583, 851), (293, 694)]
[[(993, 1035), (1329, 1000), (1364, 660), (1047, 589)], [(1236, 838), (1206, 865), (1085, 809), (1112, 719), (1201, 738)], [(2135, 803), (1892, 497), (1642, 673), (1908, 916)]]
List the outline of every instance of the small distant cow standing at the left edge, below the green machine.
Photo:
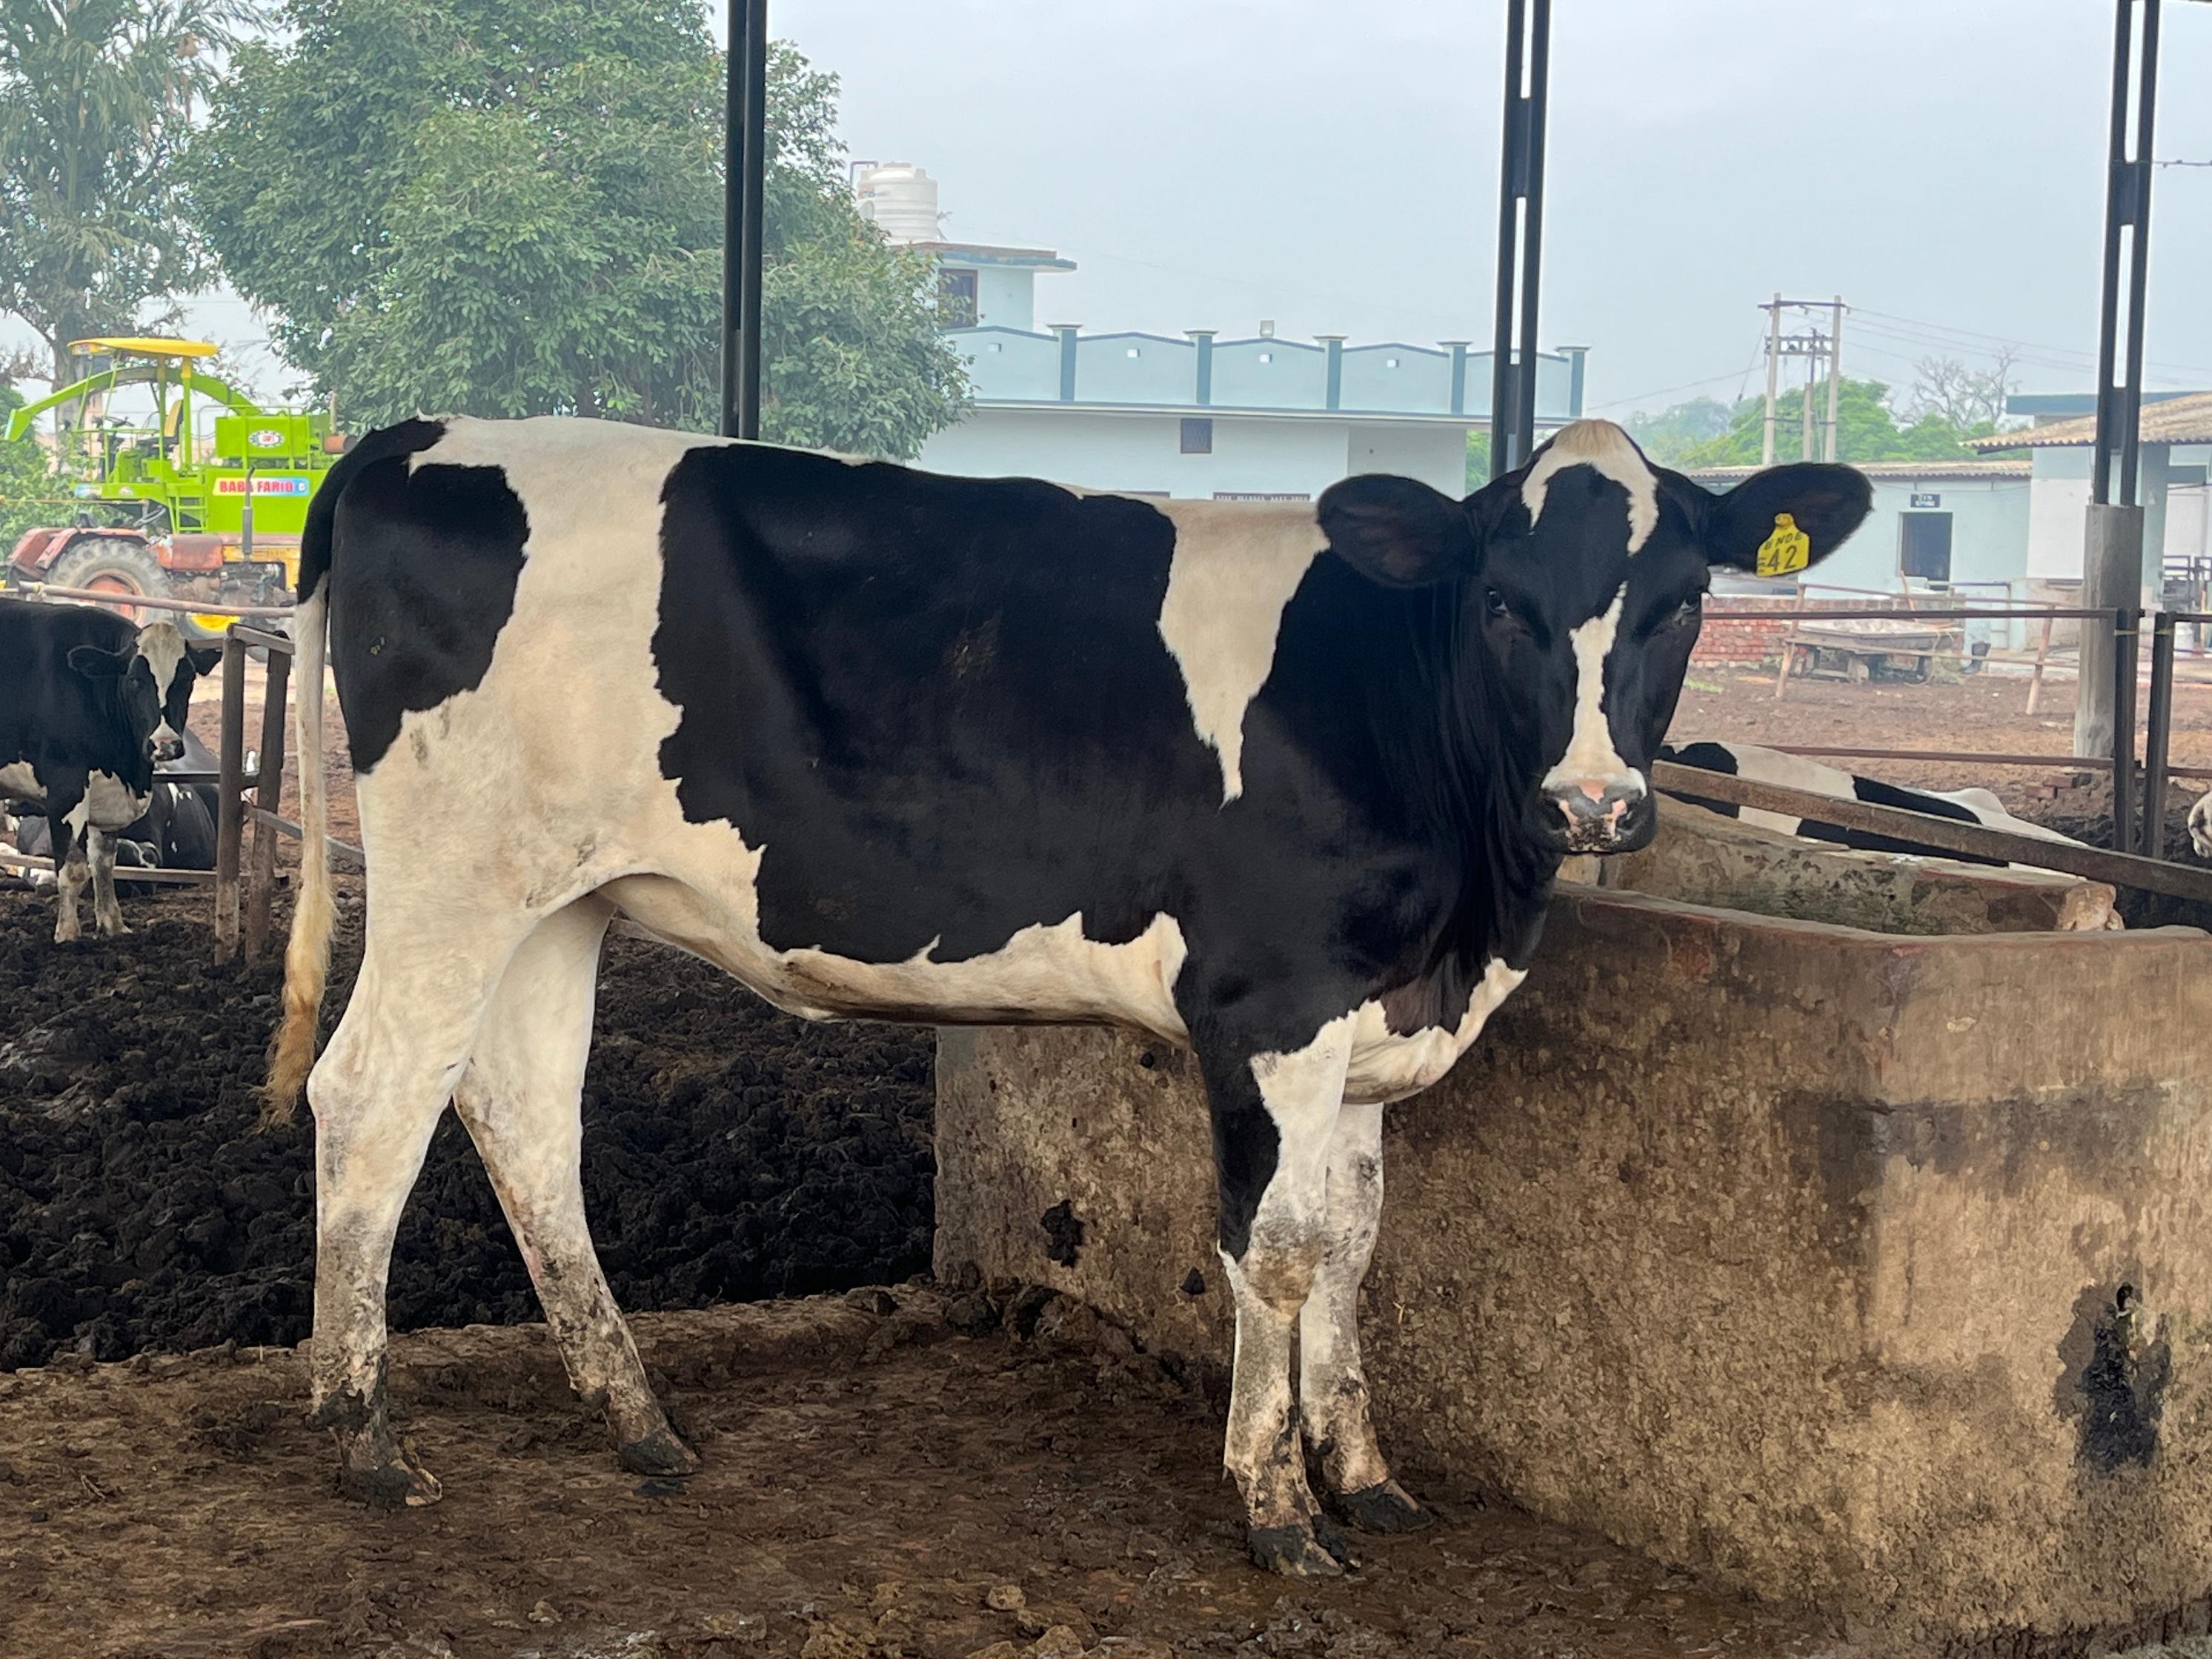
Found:
[(93, 885), (100, 933), (128, 933), (115, 902), (115, 836), (146, 814), (155, 761), (184, 754), (192, 681), (215, 648), (188, 648), (168, 622), (133, 628), (91, 606), (0, 599), (0, 799), (46, 818), (60, 914), (77, 938)]

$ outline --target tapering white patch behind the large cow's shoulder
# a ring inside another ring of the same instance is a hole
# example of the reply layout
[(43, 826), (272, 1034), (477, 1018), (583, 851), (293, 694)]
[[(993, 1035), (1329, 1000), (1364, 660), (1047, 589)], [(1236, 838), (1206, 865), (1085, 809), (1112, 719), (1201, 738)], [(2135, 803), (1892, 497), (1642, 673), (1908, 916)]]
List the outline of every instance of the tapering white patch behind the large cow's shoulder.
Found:
[(1243, 794), (1243, 721), (1274, 668), (1283, 606), (1327, 540), (1312, 507), (1152, 502), (1175, 522), (1159, 637), (1183, 670), (1190, 719), (1221, 757), (1221, 801)]

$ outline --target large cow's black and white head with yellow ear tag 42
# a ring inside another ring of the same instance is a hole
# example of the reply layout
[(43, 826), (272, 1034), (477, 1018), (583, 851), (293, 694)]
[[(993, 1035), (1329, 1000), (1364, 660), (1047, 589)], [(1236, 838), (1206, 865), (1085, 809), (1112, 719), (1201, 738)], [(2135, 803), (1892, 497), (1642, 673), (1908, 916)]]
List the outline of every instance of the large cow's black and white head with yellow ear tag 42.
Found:
[[(1652, 467), (1610, 420), (1453, 502), (1409, 478), (1321, 498), (1329, 546), (1376, 582), (1460, 593), (1462, 677), (1526, 774), (1526, 827), (1559, 852), (1635, 852), (1714, 566), (1794, 575), (1867, 515), (1849, 467), (1770, 467), (1725, 495)], [(1765, 555), (1761, 555), (1765, 549)]]

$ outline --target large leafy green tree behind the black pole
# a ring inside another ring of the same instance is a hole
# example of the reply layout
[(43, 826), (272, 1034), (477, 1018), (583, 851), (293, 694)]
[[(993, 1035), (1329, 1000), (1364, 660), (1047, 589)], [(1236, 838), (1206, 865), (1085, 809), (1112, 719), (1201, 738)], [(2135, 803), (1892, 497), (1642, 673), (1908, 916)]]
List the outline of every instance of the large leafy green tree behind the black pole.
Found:
[[(290, 0), (190, 157), (241, 294), (361, 422), (712, 427), (721, 58), (699, 0)], [(967, 376), (845, 188), (836, 80), (770, 58), (763, 429), (911, 456)]]

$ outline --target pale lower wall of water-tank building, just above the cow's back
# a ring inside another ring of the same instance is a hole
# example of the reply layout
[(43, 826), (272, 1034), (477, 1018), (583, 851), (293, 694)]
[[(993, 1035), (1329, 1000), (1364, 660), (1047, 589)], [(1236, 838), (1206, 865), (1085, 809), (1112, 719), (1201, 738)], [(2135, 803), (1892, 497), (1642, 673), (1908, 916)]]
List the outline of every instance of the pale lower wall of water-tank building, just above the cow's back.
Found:
[[(1192, 416), (1206, 416), (1192, 409)], [(973, 478), (1051, 478), (1206, 500), (1321, 495), (1354, 471), (1396, 471), (1451, 495), (1467, 487), (1467, 427), (1354, 425), (1212, 414), (1210, 456), (1181, 453), (1181, 416), (1099, 409), (975, 409), (922, 445), (920, 465)]]

